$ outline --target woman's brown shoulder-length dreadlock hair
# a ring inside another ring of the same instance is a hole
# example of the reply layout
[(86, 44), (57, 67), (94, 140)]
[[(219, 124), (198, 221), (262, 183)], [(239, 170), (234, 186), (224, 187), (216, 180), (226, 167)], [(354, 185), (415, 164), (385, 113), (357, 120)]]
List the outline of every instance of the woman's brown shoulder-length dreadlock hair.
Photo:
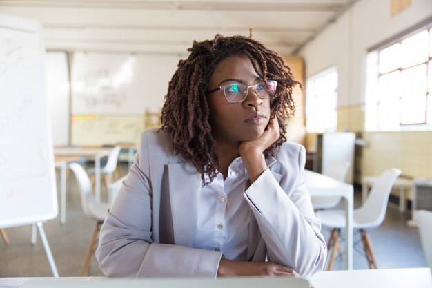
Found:
[(203, 184), (209, 183), (205, 182), (204, 174), (210, 182), (217, 176), (219, 158), (209, 124), (208, 81), (220, 61), (232, 55), (245, 55), (264, 83), (267, 79), (277, 81), (270, 108), (271, 117), (277, 117), (280, 137), (264, 151), (266, 157), (274, 156), (286, 141), (286, 122), (295, 112), (291, 94), (293, 86), (300, 84), (293, 79), (284, 58), (251, 37), (219, 34), (213, 40), (193, 41), (188, 51), (189, 57), (179, 61), (170, 80), (161, 113), (161, 131), (171, 133), (174, 153), (196, 167)]

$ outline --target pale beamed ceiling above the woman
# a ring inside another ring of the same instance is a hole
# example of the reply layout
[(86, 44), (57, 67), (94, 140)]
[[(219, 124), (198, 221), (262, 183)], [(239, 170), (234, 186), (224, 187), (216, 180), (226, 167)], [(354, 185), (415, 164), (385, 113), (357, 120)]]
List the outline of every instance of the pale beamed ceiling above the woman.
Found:
[(184, 55), (193, 40), (249, 35), (295, 53), (355, 0), (0, 0), (0, 13), (40, 21), (48, 50)]

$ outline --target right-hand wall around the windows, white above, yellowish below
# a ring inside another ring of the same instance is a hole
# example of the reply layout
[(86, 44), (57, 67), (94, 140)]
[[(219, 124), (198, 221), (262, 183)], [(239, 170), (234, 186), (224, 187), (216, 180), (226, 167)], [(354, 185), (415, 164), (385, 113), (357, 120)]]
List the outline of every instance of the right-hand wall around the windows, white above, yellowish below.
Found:
[[(356, 181), (391, 166), (411, 177), (432, 177), (431, 132), (364, 132), (363, 109), (367, 50), (431, 16), (430, 0), (413, 0), (393, 17), (391, 1), (360, 0), (300, 51), (306, 59), (306, 77), (337, 66), (337, 131), (362, 133), (369, 142), (360, 153)], [(306, 139), (313, 142), (314, 135)]]

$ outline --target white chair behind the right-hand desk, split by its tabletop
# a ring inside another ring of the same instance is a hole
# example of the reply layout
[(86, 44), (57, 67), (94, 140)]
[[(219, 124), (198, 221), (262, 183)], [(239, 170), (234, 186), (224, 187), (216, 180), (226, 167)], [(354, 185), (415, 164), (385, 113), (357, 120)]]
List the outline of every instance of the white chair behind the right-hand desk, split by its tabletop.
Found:
[[(332, 177), (333, 179), (345, 182), (348, 169), (351, 166), (351, 162), (342, 161), (335, 162), (328, 165), (327, 169), (323, 171), (323, 175)], [(312, 197), (311, 198), (313, 209), (328, 209), (333, 208), (340, 202), (340, 197)]]

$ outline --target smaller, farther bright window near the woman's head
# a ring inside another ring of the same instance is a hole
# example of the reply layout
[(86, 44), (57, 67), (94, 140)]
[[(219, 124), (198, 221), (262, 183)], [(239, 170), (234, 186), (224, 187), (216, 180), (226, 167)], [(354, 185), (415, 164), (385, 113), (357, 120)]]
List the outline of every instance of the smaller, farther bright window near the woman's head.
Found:
[(306, 131), (334, 132), (337, 128), (337, 69), (328, 68), (306, 81)]

